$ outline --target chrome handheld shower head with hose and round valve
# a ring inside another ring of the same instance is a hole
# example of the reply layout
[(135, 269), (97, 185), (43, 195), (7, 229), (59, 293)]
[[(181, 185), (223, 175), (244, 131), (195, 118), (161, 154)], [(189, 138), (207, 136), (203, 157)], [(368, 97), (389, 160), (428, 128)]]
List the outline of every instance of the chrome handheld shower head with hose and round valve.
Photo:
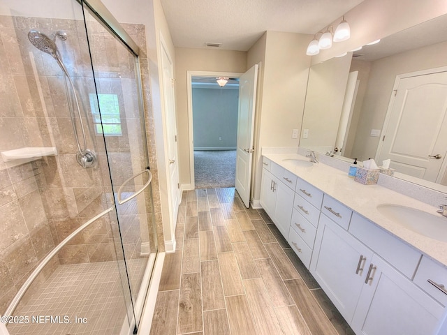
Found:
[[(93, 168), (98, 158), (96, 157), (96, 154), (94, 151), (91, 151), (90, 149), (87, 149), (87, 140), (85, 137), (85, 130), (84, 130), (84, 124), (82, 123), (82, 116), (81, 116), (81, 110), (79, 107), (78, 102), (78, 95), (76, 94), (75, 85), (73, 84), (73, 80), (71, 80), (70, 74), (68, 73), (68, 70), (66, 69), (64, 62), (61, 59), (61, 54), (59, 53), (59, 50), (57, 49), (56, 45), (56, 38), (59, 37), (61, 40), (67, 39), (67, 34), (64, 31), (57, 31), (54, 34), (54, 39), (49, 38), (45, 34), (41, 33), (41, 31), (38, 31), (36, 29), (31, 29), (28, 32), (28, 39), (29, 41), (38, 48), (38, 50), (41, 50), (43, 52), (46, 52), (47, 54), (50, 54), (54, 59), (56, 59), (57, 64), (60, 66), (61, 70), (64, 72), (64, 79), (70, 84), (71, 89), (71, 98), (68, 98), (68, 110), (70, 112), (71, 117), (71, 123), (73, 124), (73, 133), (75, 134), (75, 140), (76, 144), (78, 145), (78, 154), (76, 154), (76, 160), (78, 163), (82, 166), (82, 168)], [(65, 82), (66, 87), (66, 82)], [(67, 87), (66, 87), (67, 91)], [(80, 123), (81, 133), (82, 133), (82, 147), (79, 142), (79, 135), (78, 135), (78, 126), (76, 126), (76, 118), (73, 111), (73, 104), (76, 107), (76, 112), (78, 112), (78, 119)]]

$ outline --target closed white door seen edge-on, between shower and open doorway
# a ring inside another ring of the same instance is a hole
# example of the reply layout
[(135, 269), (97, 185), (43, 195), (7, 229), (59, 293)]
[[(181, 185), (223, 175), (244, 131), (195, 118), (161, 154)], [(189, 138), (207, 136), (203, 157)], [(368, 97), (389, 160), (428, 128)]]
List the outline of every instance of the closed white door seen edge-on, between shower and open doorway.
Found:
[(177, 211), (180, 202), (179, 170), (177, 159), (177, 124), (175, 121), (175, 94), (174, 94), (174, 73), (173, 63), (166, 50), (164, 43), (161, 43), (161, 65), (163, 67), (163, 94), (166, 112), (166, 133), (167, 133), (167, 158), (169, 160), (169, 185), (171, 213), (173, 224), (177, 221)]

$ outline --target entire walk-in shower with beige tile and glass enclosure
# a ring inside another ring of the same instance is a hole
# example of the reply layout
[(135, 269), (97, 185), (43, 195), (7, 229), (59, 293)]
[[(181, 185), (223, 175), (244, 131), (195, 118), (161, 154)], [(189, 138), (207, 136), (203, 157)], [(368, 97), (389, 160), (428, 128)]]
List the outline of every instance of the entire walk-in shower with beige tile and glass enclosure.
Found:
[(0, 0), (0, 320), (13, 335), (133, 334), (158, 253), (145, 29), (92, 6)]

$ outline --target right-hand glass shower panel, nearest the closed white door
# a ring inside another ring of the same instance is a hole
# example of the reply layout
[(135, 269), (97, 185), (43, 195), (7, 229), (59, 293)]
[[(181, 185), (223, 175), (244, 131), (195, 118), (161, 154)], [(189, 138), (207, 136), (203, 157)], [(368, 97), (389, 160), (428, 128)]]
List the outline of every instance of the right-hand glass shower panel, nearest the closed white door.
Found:
[[(122, 261), (138, 325), (147, 289), (143, 277), (149, 276), (157, 251), (139, 58), (96, 20), (86, 17), (86, 22), (97, 92), (89, 96), (90, 117), (106, 147)], [(127, 28), (134, 40), (144, 41), (142, 25)]]

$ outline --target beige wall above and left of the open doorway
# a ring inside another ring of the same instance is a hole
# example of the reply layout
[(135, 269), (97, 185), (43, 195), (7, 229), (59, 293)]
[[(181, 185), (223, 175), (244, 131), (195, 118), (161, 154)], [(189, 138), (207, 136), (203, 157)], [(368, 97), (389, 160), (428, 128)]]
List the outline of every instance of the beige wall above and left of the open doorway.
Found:
[(247, 70), (247, 52), (229, 50), (175, 48), (175, 87), (180, 184), (191, 184), (189, 155), (191, 138), (188, 125), (186, 71), (238, 72)]

